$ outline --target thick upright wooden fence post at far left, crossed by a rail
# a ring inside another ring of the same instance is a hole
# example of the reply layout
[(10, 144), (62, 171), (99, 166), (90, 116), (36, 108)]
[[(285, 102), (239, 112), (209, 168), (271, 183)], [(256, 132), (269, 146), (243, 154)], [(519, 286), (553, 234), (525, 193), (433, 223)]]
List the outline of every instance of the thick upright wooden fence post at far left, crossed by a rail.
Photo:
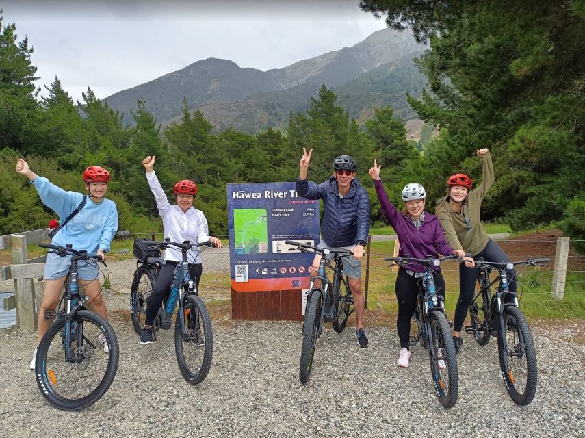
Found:
[[(27, 263), (27, 237), (10, 236), (10, 246), (12, 246), (12, 264)], [(15, 279), (14, 296), (16, 297), (16, 324), (25, 329), (36, 330), (33, 280)]]

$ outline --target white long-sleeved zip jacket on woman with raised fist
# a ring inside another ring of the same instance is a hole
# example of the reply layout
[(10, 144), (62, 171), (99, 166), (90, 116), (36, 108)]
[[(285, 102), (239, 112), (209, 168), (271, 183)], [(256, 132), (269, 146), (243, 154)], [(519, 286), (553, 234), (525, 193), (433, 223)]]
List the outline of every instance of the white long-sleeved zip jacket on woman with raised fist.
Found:
[[(161, 187), (159, 179), (155, 172), (146, 173), (146, 180), (155, 195), (159, 214), (163, 219), (163, 234), (165, 239), (171, 242), (183, 243), (189, 240), (192, 243), (202, 243), (209, 241), (209, 227), (207, 218), (203, 211), (190, 207), (187, 213), (179, 205), (172, 205), (168, 202), (166, 194)], [(181, 250), (178, 248), (168, 248), (164, 252), (165, 261), (181, 261)], [(201, 256), (196, 249), (190, 249), (187, 253), (189, 263), (201, 263)]]

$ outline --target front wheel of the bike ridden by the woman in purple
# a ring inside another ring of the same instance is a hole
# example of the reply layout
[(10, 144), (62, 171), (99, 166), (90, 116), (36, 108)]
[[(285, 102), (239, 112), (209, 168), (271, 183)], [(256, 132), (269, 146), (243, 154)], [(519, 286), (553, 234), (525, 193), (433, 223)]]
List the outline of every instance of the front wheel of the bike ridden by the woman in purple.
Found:
[(457, 402), (459, 378), (455, 346), (447, 318), (440, 311), (430, 314), (428, 357), (430, 372), (439, 402), (452, 408)]

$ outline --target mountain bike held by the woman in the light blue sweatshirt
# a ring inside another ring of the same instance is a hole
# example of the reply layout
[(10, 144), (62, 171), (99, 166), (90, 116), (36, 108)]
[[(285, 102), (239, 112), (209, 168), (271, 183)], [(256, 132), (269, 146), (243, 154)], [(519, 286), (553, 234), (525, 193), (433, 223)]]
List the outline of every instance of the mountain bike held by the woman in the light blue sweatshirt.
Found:
[(74, 250), (70, 244), (38, 246), (72, 257), (57, 309), (44, 312), (45, 320), (55, 322), (38, 345), (36, 382), (41, 394), (57, 409), (79, 411), (98, 401), (112, 385), (120, 357), (114, 329), (86, 309), (89, 297), (77, 285), (77, 262), (102, 260), (99, 255)]

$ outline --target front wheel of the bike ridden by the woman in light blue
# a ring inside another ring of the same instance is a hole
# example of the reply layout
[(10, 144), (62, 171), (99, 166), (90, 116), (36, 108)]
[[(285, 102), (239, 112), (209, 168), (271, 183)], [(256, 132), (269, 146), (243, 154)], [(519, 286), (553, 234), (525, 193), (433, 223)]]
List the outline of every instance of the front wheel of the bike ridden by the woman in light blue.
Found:
[[(41, 339), (35, 363), (41, 394), (63, 411), (79, 411), (98, 401), (118, 370), (120, 350), (112, 326), (96, 313), (80, 310), (70, 325), (69, 346), (73, 355), (65, 359), (66, 328), (63, 316)], [(107, 352), (104, 352), (104, 346)]]

